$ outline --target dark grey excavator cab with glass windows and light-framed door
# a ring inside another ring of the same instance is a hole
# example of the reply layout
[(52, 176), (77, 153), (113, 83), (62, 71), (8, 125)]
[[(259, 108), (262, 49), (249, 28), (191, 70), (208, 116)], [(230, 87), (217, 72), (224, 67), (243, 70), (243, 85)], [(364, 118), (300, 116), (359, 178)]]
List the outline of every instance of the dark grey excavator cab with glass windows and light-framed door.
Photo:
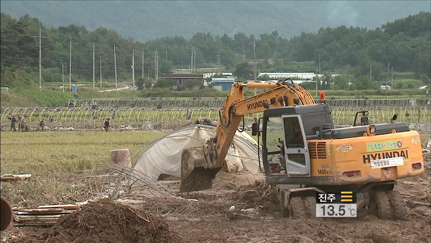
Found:
[[(261, 120), (261, 119), (259, 119)], [(262, 133), (264, 170), (270, 181), (311, 176), (310, 150), (307, 140), (318, 138), (332, 128), (327, 104), (287, 106), (264, 111)], [(295, 180), (295, 179), (293, 179)]]

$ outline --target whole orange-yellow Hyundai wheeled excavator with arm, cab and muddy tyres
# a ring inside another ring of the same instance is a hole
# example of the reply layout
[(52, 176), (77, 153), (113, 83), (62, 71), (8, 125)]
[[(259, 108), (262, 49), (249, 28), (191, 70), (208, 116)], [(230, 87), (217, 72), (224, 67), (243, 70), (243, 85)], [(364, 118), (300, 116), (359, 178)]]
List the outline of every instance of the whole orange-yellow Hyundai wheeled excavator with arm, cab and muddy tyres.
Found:
[[(316, 217), (316, 193), (353, 191), (358, 210), (365, 206), (380, 219), (403, 220), (405, 203), (394, 185), (424, 171), (419, 134), (396, 123), (396, 115), (371, 125), (367, 111), (356, 113), (352, 127), (334, 128), (323, 92), (316, 104), (307, 90), (286, 81), (232, 85), (215, 137), (182, 152), (180, 191), (210, 188), (241, 120), (244, 129), (243, 115), (263, 112), (252, 135), (258, 143), (262, 137), (266, 181), (277, 186), (286, 216)], [(267, 91), (245, 98), (245, 88)]]

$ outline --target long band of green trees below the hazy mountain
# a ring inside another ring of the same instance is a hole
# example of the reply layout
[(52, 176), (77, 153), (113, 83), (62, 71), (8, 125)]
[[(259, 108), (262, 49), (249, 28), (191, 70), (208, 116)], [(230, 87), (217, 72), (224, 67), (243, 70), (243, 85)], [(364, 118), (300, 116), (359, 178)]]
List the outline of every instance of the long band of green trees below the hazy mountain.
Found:
[[(348, 74), (354, 78), (370, 75), (371, 79), (387, 77), (388, 66), (398, 72), (414, 72), (417, 77), (431, 77), (431, 13), (420, 12), (406, 18), (366, 29), (339, 26), (321, 28), (315, 33), (282, 37), (277, 31), (259, 36), (236, 33), (215, 35), (196, 33), (166, 36), (146, 43), (124, 38), (115, 30), (99, 27), (88, 30), (84, 26), (44, 26), (38, 19), (26, 15), (19, 19), (1, 14), (2, 86), (18, 86), (16, 73), (37, 72), (38, 36), (42, 36), (42, 78), (44, 82), (61, 82), (62, 65), (65, 75), (69, 68), (69, 41), (72, 42), (72, 82), (89, 82), (93, 75), (92, 51), (96, 49), (96, 80), (99, 66), (103, 79), (114, 77), (113, 45), (119, 81), (131, 78), (132, 51), (135, 51), (135, 72), (145, 79), (155, 74), (155, 51), (158, 52), (159, 73), (187, 69), (192, 50), (196, 68), (218, 68), (234, 71), (248, 68), (253, 62), (253, 45), (261, 72), (319, 71)], [(142, 70), (142, 53), (144, 69)], [(99, 63), (101, 60), (101, 63)], [(245, 64), (247, 63), (247, 64)], [(320, 66), (320, 68), (319, 68)], [(252, 68), (252, 67), (251, 67)], [(243, 70), (242, 70), (243, 71)], [(9, 75), (7, 75), (9, 74)], [(15, 74), (15, 75), (13, 75)], [(34, 75), (34, 84), (37, 76)], [(67, 79), (67, 77), (66, 77)], [(346, 82), (340, 86), (344, 87)]]

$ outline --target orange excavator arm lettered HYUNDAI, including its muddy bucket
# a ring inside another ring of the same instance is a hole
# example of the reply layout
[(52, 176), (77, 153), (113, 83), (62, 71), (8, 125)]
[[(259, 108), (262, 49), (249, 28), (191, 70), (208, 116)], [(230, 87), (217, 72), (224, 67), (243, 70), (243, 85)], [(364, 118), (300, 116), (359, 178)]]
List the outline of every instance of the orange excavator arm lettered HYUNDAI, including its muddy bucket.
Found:
[[(269, 89), (245, 98), (245, 88)], [(285, 83), (234, 83), (220, 111), (215, 137), (199, 147), (184, 149), (181, 157), (180, 191), (196, 191), (212, 186), (212, 179), (225, 164), (235, 132), (245, 114), (265, 109), (314, 104), (311, 94), (299, 85)]]

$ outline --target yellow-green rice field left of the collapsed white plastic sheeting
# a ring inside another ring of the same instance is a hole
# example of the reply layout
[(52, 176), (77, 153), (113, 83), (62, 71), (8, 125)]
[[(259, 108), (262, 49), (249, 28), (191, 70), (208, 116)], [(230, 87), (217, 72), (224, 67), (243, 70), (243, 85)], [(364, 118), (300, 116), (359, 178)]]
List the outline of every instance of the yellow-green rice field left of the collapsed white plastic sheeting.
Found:
[(56, 174), (109, 163), (109, 151), (131, 152), (163, 132), (0, 133), (1, 174)]

